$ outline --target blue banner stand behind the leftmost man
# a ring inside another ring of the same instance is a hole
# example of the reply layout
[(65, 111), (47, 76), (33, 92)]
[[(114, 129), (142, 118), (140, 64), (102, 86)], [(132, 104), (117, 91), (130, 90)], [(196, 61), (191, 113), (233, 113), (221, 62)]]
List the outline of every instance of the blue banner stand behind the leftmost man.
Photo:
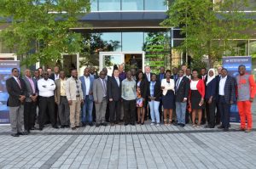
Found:
[(6, 80), (11, 77), (13, 68), (20, 69), (20, 61), (0, 60), (0, 124), (9, 124), (9, 107), (7, 106), (8, 93)]

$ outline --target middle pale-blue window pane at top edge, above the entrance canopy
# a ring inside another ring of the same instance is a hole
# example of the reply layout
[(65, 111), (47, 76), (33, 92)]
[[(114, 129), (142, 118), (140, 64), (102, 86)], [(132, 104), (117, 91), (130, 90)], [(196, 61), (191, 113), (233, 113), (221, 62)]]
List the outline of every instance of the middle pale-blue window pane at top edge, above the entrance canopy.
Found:
[(143, 10), (143, 0), (122, 0), (122, 10)]

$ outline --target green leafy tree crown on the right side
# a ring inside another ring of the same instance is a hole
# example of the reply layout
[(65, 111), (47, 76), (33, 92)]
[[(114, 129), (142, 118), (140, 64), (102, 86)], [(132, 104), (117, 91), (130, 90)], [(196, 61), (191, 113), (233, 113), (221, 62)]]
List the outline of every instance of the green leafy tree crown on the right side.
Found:
[(247, 30), (255, 26), (251, 16), (244, 12), (247, 0), (178, 0), (169, 4), (168, 18), (161, 25), (179, 27), (185, 36), (179, 50), (195, 59), (208, 56), (209, 65), (230, 49), (230, 39), (247, 39)]

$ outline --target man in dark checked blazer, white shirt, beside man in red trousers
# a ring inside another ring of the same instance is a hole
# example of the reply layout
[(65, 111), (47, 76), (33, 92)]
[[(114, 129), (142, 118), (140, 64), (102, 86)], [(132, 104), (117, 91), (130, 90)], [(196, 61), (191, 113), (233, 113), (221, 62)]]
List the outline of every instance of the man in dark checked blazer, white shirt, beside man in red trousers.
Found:
[(218, 83), (218, 108), (220, 111), (222, 126), (224, 132), (229, 131), (230, 125), (230, 105), (234, 104), (236, 99), (236, 89), (234, 78), (228, 76), (228, 70), (221, 70), (221, 78)]

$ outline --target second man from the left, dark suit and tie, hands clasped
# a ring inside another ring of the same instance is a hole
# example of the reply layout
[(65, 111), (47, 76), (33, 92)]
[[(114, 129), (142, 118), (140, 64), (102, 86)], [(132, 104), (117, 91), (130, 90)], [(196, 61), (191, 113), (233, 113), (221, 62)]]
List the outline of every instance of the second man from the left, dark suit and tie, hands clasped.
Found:
[(37, 99), (38, 99), (38, 90), (37, 82), (31, 76), (31, 71), (29, 69), (25, 70), (25, 76), (23, 77), (24, 82), (26, 83), (26, 102), (24, 106), (24, 127), (26, 132), (35, 127), (35, 116), (37, 113)]

